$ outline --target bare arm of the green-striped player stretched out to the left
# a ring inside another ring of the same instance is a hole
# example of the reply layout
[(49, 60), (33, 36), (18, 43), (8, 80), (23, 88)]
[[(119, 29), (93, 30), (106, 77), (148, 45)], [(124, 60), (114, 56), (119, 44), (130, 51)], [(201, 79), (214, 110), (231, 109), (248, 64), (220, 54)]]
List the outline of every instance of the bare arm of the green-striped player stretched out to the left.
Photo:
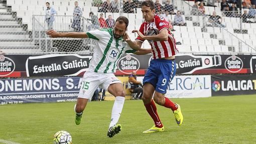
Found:
[(69, 37), (69, 38), (88, 38), (86, 33), (76, 33), (76, 32), (70, 32), (70, 33), (59, 33), (54, 30), (48, 30), (45, 32), (47, 35), (49, 35), (50, 38), (59, 38), (59, 37)]

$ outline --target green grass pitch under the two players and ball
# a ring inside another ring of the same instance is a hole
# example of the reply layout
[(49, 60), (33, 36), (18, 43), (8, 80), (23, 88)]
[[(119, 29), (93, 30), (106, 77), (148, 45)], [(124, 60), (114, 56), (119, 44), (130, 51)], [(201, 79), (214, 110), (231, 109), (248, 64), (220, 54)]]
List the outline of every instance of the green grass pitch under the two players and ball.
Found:
[(75, 125), (73, 102), (2, 105), (0, 139), (45, 144), (66, 130), (73, 144), (256, 142), (256, 95), (172, 100), (181, 105), (183, 125), (176, 124), (170, 109), (157, 105), (165, 131), (142, 133), (153, 120), (141, 100), (126, 100), (118, 122), (122, 130), (113, 138), (106, 136), (113, 101), (87, 104), (80, 125)]

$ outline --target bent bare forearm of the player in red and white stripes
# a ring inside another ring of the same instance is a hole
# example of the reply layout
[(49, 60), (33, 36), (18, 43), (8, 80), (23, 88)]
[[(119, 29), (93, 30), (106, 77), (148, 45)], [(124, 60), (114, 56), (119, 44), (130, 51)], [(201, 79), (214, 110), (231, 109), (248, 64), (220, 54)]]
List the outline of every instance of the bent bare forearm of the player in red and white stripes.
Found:
[(133, 30), (133, 33), (137, 33), (139, 35), (139, 37), (141, 37), (144, 40), (151, 40), (151, 41), (167, 41), (168, 40), (168, 30), (167, 29), (161, 30), (160, 33), (155, 36), (144, 36), (138, 30)]

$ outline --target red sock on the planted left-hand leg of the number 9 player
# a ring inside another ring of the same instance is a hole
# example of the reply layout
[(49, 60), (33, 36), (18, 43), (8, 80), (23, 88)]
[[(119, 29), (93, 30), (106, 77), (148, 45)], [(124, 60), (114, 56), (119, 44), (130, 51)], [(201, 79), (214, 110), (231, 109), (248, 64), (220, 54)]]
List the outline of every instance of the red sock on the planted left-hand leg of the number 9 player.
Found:
[(148, 113), (150, 114), (150, 116), (152, 117), (152, 119), (154, 120), (156, 127), (160, 127), (160, 128), (163, 127), (163, 124), (157, 113), (157, 107), (155, 105), (155, 102), (151, 100), (149, 104), (145, 104), (145, 107)]

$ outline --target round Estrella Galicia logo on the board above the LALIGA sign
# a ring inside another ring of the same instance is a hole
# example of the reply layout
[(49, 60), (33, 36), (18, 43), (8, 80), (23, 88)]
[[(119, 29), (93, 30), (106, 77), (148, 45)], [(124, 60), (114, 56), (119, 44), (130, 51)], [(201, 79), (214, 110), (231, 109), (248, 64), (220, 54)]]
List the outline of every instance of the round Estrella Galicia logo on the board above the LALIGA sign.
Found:
[(243, 67), (242, 60), (235, 55), (232, 55), (231, 57), (228, 57), (225, 60), (225, 68), (231, 73), (239, 72), (242, 69), (242, 67)]

